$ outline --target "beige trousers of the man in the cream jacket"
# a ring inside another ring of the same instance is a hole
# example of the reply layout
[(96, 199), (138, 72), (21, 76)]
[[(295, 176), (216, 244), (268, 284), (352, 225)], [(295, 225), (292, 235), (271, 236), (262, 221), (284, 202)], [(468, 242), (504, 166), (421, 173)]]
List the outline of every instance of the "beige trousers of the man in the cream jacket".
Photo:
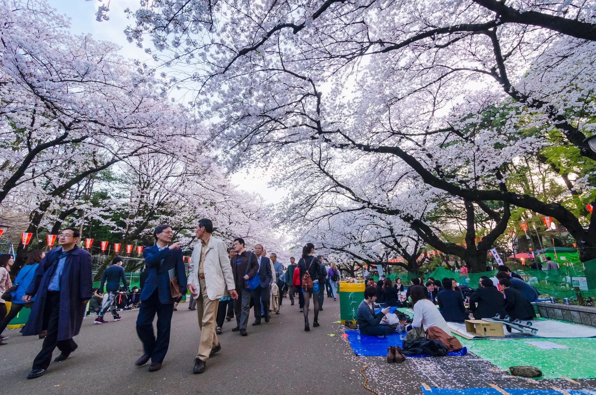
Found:
[(197, 317), (198, 327), (201, 329), (201, 340), (198, 343), (197, 358), (206, 361), (209, 359), (211, 349), (219, 344), (215, 334), (215, 319), (218, 315), (219, 300), (210, 300), (207, 297), (205, 279), (199, 279), (198, 284)]

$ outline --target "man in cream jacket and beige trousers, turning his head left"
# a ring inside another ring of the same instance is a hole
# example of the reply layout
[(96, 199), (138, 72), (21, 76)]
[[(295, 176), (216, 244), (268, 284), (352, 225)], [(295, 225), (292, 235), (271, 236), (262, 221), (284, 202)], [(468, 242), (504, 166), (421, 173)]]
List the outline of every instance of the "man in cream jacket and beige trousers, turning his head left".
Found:
[(232, 299), (238, 298), (226, 245), (211, 236), (212, 232), (211, 220), (202, 218), (198, 221), (195, 234), (199, 242), (194, 247), (188, 265), (188, 290), (191, 297), (197, 300), (198, 326), (201, 329), (201, 340), (194, 360), (195, 374), (204, 372), (207, 359), (222, 348), (215, 334), (219, 298), (228, 292)]

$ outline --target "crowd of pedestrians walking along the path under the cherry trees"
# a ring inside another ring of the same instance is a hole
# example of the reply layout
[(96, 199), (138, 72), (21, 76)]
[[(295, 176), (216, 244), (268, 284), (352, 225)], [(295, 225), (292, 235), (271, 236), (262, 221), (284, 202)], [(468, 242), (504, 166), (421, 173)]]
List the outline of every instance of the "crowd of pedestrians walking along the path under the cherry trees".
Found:
[[(188, 291), (188, 309), (197, 312), (201, 334), (193, 366), (193, 372), (199, 374), (206, 369), (207, 360), (222, 349), (218, 335), (226, 320), (235, 319), (231, 331), (247, 336), (251, 310), (252, 326), (262, 325), (271, 320), (271, 314), (281, 313), (285, 297), (293, 306), (298, 296), (296, 312), (303, 313), (304, 329), (310, 331), (311, 300), (313, 328), (319, 326), (325, 291), (328, 298), (337, 300), (340, 272), (336, 265), (325, 266), (322, 258), (315, 256), (312, 243), (304, 246), (297, 262), (291, 257), (284, 267), (277, 254), (267, 257), (261, 244), (249, 250), (244, 239), (237, 237), (228, 247), (212, 233), (212, 221), (206, 218), (198, 221), (195, 227), (198, 242), (187, 273), (181, 244), (172, 242), (172, 227), (157, 226), (153, 232), (154, 245), (143, 251), (145, 269), (140, 276), (140, 289), (135, 286), (132, 290), (128, 289), (120, 257), (113, 258), (104, 270), (100, 287), (92, 288), (91, 255), (79, 248), (79, 230), (73, 227), (58, 235), (57, 248), (46, 254), (42, 251), (29, 254), (15, 286), (10, 280), (13, 255), (0, 255), (0, 295), (10, 291), (13, 303), (7, 314), (5, 301), (0, 300), (0, 334), (22, 308), (31, 308), (21, 333), (44, 339), (27, 378), (45, 374), (55, 348), (60, 350), (55, 362), (66, 360), (76, 350), (73, 337), (79, 334), (86, 314), (97, 314), (94, 323), (101, 325), (108, 323), (104, 319), (108, 311), (115, 322), (122, 319), (118, 312), (121, 308), (139, 307), (136, 332), (144, 352), (135, 364), (151, 362), (149, 371), (154, 372), (162, 367), (167, 354), (173, 311)], [(157, 334), (153, 329), (156, 316)], [(0, 338), (0, 344), (7, 344), (7, 339)]]

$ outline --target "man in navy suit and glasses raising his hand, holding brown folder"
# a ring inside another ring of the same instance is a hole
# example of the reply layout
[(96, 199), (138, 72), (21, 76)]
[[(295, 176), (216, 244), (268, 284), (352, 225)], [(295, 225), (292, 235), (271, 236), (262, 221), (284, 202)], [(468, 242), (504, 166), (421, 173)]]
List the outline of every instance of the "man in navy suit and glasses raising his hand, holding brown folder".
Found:
[[(141, 308), (136, 317), (136, 334), (143, 343), (145, 353), (136, 360), (136, 366), (145, 365), (151, 359), (150, 372), (159, 371), (166, 357), (170, 344), (170, 323), (176, 298), (170, 291), (169, 270), (178, 276), (180, 292), (187, 292), (187, 275), (182, 260), (180, 243), (172, 242), (172, 227), (166, 224), (155, 228), (153, 236), (155, 245), (143, 250), (145, 266), (148, 270), (147, 280), (141, 290)], [(157, 313), (157, 339), (153, 334), (153, 319)]]

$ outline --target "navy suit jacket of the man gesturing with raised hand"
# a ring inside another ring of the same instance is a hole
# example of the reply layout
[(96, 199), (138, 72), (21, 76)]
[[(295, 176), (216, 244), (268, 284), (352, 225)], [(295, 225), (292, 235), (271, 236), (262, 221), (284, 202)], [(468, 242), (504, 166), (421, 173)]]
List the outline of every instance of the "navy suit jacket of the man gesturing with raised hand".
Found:
[(187, 292), (187, 274), (184, 269), (184, 260), (182, 260), (182, 249), (170, 250), (164, 248), (159, 251), (157, 244), (154, 244), (143, 250), (145, 266), (148, 270), (147, 280), (141, 288), (141, 301), (147, 300), (157, 289), (159, 301), (163, 304), (174, 303), (176, 298), (172, 298), (170, 291), (170, 276), (167, 273), (170, 269), (176, 269), (178, 284), (182, 295)]

